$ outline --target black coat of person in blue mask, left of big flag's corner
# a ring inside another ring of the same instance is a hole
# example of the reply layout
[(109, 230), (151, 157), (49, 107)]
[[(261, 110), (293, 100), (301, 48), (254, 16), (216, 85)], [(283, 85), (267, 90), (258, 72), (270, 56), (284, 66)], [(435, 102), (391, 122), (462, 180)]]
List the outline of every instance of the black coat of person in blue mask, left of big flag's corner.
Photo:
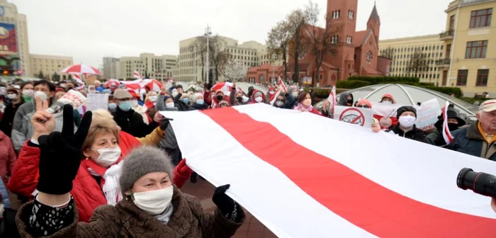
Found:
[(128, 132), (134, 137), (145, 137), (158, 126), (158, 123), (155, 123), (154, 121), (149, 125), (143, 123), (143, 117), (139, 113), (133, 111), (133, 109), (126, 112), (117, 107), (112, 115), (113, 120), (120, 126), (120, 129), (124, 132)]

